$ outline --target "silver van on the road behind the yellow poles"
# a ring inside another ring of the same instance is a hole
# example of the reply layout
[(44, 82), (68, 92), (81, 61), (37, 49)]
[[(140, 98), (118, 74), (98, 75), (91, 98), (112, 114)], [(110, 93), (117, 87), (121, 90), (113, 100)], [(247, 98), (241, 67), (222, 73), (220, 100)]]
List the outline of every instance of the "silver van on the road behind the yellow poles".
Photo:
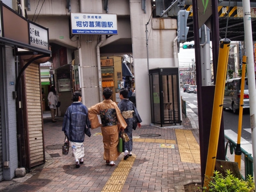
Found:
[[(240, 106), (241, 93), (241, 78), (229, 79), (225, 83), (223, 110), (231, 109), (233, 113), (238, 113)], [(244, 82), (244, 106), (249, 108), (249, 91), (248, 80), (245, 78)]]

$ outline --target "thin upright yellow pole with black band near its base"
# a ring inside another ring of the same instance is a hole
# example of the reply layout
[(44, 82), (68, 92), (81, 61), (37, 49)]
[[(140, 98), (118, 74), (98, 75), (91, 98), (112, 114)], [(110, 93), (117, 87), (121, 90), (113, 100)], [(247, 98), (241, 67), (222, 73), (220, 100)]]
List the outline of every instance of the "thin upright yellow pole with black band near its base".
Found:
[(238, 163), (238, 168), (241, 170), (241, 131), (242, 131), (242, 119), (243, 119), (243, 105), (244, 105), (244, 77), (246, 68), (246, 56), (243, 55), (243, 67), (242, 67), (242, 79), (241, 79), (241, 92), (240, 92), (240, 107), (237, 129), (237, 144), (235, 149), (235, 162)]

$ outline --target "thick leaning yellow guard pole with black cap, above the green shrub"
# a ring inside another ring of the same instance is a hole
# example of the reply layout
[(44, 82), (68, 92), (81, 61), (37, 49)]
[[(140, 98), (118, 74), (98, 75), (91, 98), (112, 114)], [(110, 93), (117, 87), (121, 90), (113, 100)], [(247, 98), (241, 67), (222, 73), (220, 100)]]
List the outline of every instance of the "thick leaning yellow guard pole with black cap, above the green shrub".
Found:
[(209, 139), (209, 147), (206, 161), (206, 169), (204, 175), (204, 187), (208, 188), (209, 181), (213, 176), (213, 171), (216, 162), (218, 140), (220, 135), (220, 122), (223, 109), (223, 97), (226, 82), (228, 54), (230, 40), (225, 38), (220, 40), (220, 50), (218, 58), (218, 67), (216, 74), (215, 93), (212, 109), (212, 123)]

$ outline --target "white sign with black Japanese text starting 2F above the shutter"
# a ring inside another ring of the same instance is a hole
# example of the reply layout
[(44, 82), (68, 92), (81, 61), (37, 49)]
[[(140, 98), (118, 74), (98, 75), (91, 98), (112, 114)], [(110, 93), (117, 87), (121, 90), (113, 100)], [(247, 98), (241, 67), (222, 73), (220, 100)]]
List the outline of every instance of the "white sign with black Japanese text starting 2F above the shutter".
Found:
[(49, 50), (48, 29), (29, 22), (29, 41), (36, 47)]

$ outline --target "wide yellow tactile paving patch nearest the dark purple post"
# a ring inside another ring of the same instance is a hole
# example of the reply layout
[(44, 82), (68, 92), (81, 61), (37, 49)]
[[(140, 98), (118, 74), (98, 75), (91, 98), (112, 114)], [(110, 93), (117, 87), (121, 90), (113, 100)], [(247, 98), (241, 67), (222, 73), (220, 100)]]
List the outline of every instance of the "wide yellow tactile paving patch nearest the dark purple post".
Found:
[[(200, 164), (200, 148), (190, 130), (175, 129), (182, 162)], [(188, 144), (189, 143), (189, 144)]]

